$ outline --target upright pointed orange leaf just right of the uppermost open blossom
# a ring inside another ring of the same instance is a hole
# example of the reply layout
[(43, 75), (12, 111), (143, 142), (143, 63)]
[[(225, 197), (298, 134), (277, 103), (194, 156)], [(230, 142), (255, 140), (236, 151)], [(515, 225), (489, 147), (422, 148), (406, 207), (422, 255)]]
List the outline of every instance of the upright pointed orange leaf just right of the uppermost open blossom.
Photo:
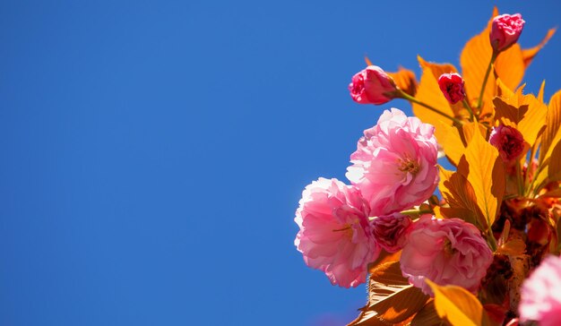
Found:
[(487, 218), (488, 225), (492, 225), (498, 203), (502, 201), (505, 193), (503, 161), (498, 156), (498, 150), (486, 142), (480, 133), (474, 133), (471, 138), (465, 161), (469, 168), (467, 178), (473, 186), (479, 209)]

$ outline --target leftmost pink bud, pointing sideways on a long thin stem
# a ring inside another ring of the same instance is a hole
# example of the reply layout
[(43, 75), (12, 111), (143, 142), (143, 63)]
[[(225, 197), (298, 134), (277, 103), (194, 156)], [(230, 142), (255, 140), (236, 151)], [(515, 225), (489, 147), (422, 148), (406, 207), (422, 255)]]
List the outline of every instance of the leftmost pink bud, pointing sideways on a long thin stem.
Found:
[(369, 65), (352, 77), (350, 97), (360, 104), (384, 104), (395, 98), (397, 87), (382, 68)]

